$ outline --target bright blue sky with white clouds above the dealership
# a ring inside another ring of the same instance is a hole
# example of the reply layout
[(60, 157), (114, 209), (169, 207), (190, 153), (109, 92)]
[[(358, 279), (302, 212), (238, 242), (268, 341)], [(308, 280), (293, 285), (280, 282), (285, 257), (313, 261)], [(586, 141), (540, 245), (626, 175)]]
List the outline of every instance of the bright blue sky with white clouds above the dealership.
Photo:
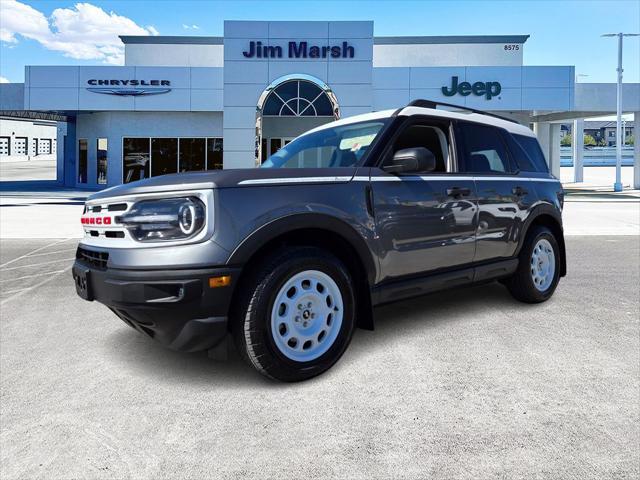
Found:
[[(615, 82), (617, 41), (640, 33), (638, 0), (170, 1), (0, 0), (0, 82), (25, 65), (120, 65), (118, 35), (222, 36), (224, 20), (373, 20), (374, 34), (528, 34), (525, 65), (575, 65), (579, 82)], [(640, 82), (640, 37), (624, 81)]]

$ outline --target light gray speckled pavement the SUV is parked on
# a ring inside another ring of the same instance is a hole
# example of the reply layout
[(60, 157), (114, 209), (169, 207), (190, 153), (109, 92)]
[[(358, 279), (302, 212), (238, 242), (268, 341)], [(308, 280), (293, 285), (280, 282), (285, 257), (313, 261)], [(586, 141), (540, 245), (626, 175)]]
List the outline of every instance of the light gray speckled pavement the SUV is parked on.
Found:
[(0, 248), (0, 477), (640, 476), (640, 237), (567, 237), (541, 305), (499, 284), (376, 310), (299, 384), (171, 352), (78, 298), (77, 240)]

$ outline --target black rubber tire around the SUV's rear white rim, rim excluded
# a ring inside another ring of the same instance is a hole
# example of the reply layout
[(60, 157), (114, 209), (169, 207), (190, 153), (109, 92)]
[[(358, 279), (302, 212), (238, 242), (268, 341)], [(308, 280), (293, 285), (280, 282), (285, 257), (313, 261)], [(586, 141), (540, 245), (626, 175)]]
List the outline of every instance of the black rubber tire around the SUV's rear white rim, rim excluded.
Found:
[[(551, 244), (555, 260), (553, 280), (549, 287), (543, 291), (536, 288), (531, 277), (531, 256), (533, 249), (542, 239), (547, 240)], [(511, 277), (506, 278), (503, 283), (516, 300), (525, 303), (540, 303), (551, 298), (551, 295), (553, 295), (553, 292), (558, 286), (559, 280), (560, 248), (558, 247), (558, 241), (547, 227), (536, 225), (527, 233), (527, 238), (520, 250), (518, 269)]]

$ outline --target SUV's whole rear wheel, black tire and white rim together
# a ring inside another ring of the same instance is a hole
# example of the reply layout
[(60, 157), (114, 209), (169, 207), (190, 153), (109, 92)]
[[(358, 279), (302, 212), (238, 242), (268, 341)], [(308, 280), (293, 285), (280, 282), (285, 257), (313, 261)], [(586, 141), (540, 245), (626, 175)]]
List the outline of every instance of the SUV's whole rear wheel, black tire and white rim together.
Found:
[(518, 270), (504, 281), (521, 302), (548, 300), (560, 279), (560, 249), (551, 230), (533, 227), (520, 251)]

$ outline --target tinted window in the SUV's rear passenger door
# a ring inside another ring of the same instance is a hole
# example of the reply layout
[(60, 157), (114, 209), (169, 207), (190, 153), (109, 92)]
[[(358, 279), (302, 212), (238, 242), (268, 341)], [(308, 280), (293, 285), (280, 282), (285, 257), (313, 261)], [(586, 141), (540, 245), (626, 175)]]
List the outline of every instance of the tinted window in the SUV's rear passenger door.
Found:
[(500, 132), (495, 127), (461, 123), (465, 152), (460, 171), (467, 173), (509, 173), (509, 155)]

